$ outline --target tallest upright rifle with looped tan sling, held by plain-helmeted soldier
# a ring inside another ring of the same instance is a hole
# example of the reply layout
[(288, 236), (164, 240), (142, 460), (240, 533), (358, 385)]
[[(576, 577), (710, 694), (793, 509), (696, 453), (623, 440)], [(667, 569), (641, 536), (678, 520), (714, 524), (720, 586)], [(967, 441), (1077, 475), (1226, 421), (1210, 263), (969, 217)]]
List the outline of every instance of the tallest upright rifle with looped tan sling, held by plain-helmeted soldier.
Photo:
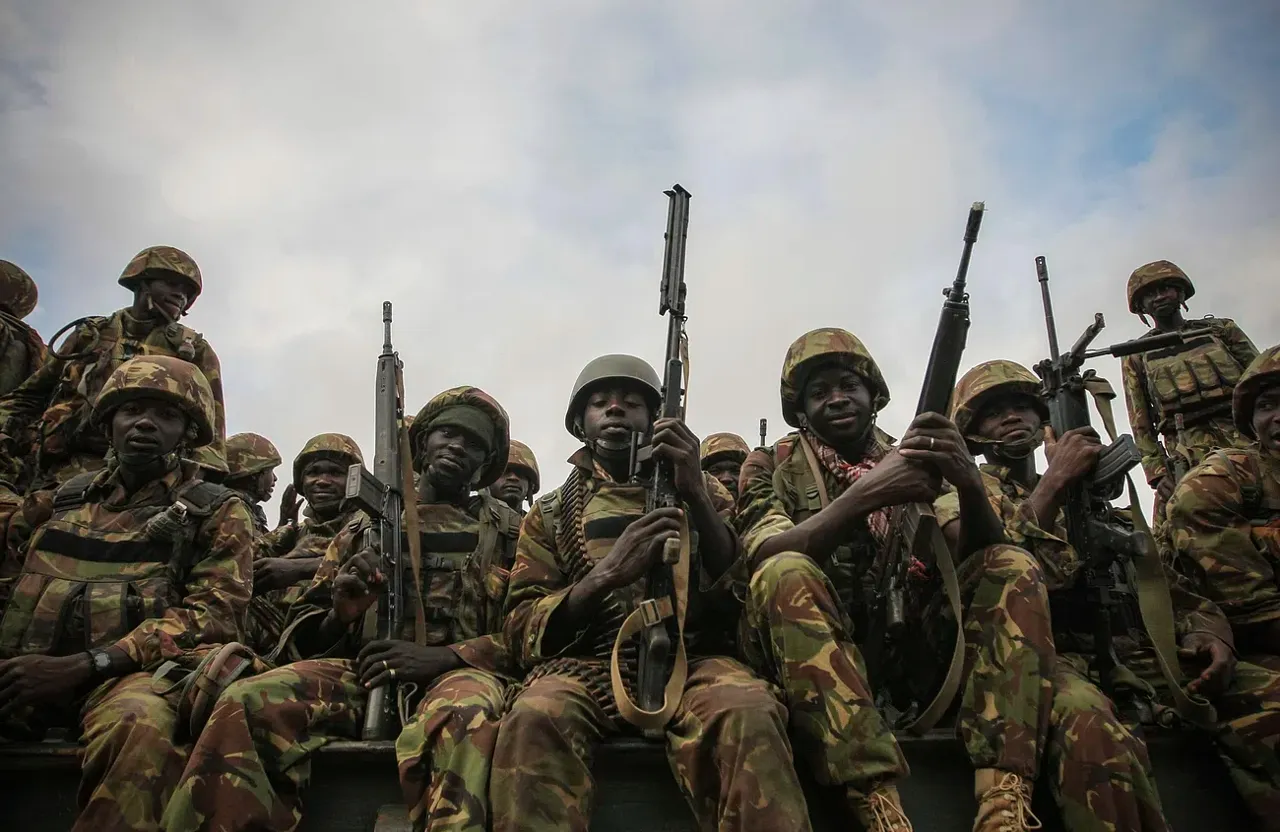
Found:
[[(685, 340), (685, 239), (689, 234), (689, 191), (678, 184), (666, 191), (667, 244), (662, 264), (662, 292), (658, 314), (667, 316), (667, 355), (663, 362), (662, 403), (657, 419), (684, 419), (687, 393), (687, 356)], [(636, 438), (632, 438), (632, 465)], [(635, 470), (635, 467), (632, 467)], [(675, 471), (669, 462), (657, 460), (645, 498), (645, 509), (678, 508)], [(660, 736), (684, 692), (687, 664), (685, 659), (684, 618), (689, 591), (689, 529), (681, 524), (680, 539), (668, 540), (662, 559), (653, 566), (645, 582), (640, 607), (627, 617), (613, 645), (612, 684), (618, 713), (646, 733)], [(622, 682), (620, 650), (622, 644), (639, 634), (636, 694), (632, 703)], [(675, 666), (671, 676), (675, 641)], [(637, 707), (639, 705), (639, 707)]]

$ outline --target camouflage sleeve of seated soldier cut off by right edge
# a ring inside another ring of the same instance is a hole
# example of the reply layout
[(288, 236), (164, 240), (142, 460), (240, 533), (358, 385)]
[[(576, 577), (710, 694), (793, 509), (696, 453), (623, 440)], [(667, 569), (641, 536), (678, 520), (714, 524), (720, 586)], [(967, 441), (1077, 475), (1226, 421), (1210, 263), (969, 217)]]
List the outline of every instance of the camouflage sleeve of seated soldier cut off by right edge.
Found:
[(1280, 618), (1276, 571), (1253, 544), (1239, 476), (1210, 456), (1183, 477), (1167, 508), (1178, 568), (1234, 626)]

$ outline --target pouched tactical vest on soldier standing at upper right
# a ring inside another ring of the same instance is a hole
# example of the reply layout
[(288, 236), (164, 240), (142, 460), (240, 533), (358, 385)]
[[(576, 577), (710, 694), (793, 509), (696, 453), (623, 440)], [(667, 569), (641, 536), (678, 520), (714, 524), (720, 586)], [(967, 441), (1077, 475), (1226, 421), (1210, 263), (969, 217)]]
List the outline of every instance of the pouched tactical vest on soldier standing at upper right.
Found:
[(1244, 367), (1222, 340), (1221, 321), (1184, 329), (1184, 343), (1142, 355), (1147, 396), (1162, 431), (1172, 429), (1174, 415), (1194, 411), (1230, 411), (1231, 392)]

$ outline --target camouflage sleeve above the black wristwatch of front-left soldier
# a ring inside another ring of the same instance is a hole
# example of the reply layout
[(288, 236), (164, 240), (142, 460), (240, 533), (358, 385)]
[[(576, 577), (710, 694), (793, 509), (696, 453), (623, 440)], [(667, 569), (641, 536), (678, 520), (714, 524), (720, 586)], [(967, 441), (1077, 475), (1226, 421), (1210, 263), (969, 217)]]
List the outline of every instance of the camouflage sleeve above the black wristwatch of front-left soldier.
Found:
[(142, 669), (197, 645), (238, 637), (253, 590), (253, 518), (239, 498), (225, 500), (201, 524), (193, 559), (182, 602), (115, 643)]

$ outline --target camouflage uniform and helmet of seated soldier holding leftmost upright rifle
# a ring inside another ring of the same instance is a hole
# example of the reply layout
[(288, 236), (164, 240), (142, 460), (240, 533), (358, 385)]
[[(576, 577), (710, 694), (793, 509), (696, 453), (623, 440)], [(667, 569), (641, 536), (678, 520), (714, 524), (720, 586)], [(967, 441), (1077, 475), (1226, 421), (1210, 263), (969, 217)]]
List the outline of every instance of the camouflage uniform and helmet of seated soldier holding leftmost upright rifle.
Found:
[[(507, 415), (476, 388), (453, 388), (419, 412), (410, 431), (419, 448), (428, 430), (456, 424), (461, 408), (489, 420), (494, 444), (472, 481), (484, 489), (507, 462)], [(419, 454), (420, 456), (420, 454)], [(466, 667), (431, 682), (421, 698), (403, 686), (402, 713), (413, 713), (396, 741), (401, 786), (415, 829), (483, 832), (498, 719), (511, 662), (497, 635), (520, 518), (488, 494), (462, 503), (419, 503), (426, 644), (448, 645)], [(358, 739), (367, 691), (355, 657), (358, 625), (337, 645), (316, 643), (315, 625), (332, 608), (332, 589), (360, 547), (367, 518), (349, 522), (330, 544), (306, 596), (292, 611), (289, 655), (301, 658), (236, 682), (219, 698), (165, 813), (169, 832), (294, 829), (311, 755), (333, 740)], [(407, 550), (407, 549), (406, 549)], [(406, 586), (413, 576), (406, 575)], [(415, 605), (407, 604), (406, 640)]]

